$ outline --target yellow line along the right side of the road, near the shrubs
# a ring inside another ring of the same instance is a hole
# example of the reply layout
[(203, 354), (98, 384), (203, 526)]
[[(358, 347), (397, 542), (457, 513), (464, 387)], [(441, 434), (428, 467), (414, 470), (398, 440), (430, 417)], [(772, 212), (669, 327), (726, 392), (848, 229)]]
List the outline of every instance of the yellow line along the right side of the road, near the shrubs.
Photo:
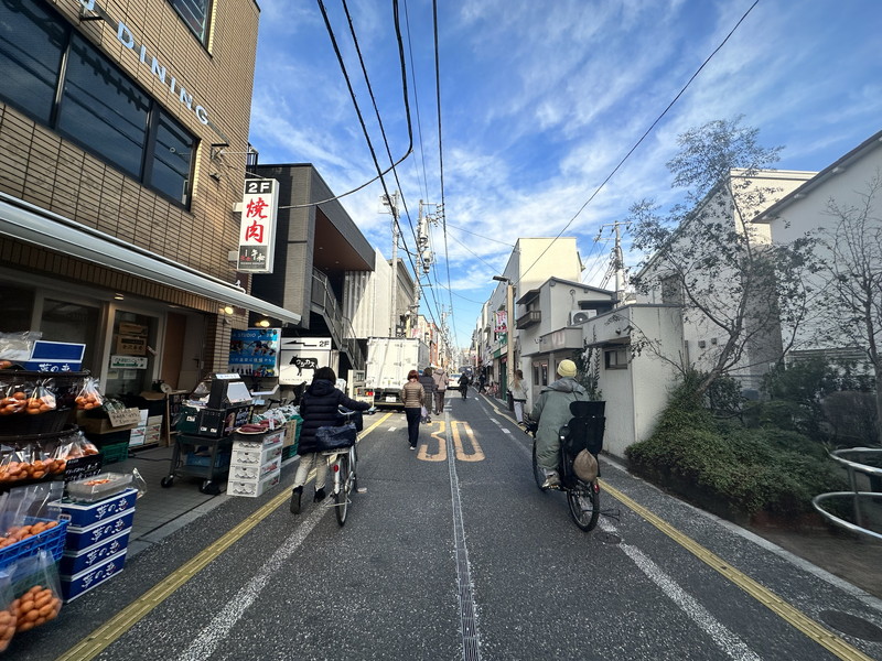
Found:
[(873, 661), (873, 659), (861, 652), (859, 649), (851, 647), (839, 636), (820, 626), (818, 622), (787, 604), (771, 589), (763, 587), (760, 583), (738, 571), (719, 555), (713, 554), (691, 538), (686, 537), (660, 517), (657, 517), (645, 507), (638, 505), (617, 489), (607, 485), (605, 481), (601, 480), (601, 485), (603, 490), (610, 494), (610, 496), (622, 502), (622, 505), (625, 507), (634, 510), (635, 513), (646, 519), (649, 523), (655, 525), (658, 530), (692, 553), (696, 557), (704, 562), (708, 566), (725, 576), (729, 581), (760, 602), (763, 606), (782, 617), (792, 626), (796, 627), (799, 631), (808, 636), (818, 644), (828, 649), (839, 659), (847, 661)]

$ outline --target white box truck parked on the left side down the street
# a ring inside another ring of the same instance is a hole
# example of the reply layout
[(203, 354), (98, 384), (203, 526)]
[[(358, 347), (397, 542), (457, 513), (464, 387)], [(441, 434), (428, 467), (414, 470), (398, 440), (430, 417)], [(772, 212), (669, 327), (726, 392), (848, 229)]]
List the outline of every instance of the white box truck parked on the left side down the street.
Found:
[(373, 401), (375, 407), (404, 409), (401, 387), (411, 369), (429, 366), (429, 347), (421, 339), (369, 337), (365, 379), (355, 391), (355, 399)]

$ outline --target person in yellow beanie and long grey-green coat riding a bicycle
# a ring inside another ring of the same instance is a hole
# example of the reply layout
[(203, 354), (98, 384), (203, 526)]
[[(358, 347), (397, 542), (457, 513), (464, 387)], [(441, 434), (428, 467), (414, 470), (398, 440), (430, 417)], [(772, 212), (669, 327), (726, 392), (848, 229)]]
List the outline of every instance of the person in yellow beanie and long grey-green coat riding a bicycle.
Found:
[(536, 430), (536, 459), (546, 476), (542, 488), (560, 486), (558, 432), (572, 418), (570, 404), (588, 401), (588, 392), (576, 380), (576, 364), (572, 360), (560, 361), (558, 377), (557, 381), (542, 388), (530, 412), (530, 418), (539, 423)]

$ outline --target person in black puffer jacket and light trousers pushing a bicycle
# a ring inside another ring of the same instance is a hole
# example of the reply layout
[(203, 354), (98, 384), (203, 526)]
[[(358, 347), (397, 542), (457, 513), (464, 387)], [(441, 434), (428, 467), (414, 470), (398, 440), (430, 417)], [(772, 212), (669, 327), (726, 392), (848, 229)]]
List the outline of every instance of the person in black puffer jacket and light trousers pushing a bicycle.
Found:
[(327, 479), (327, 462), (321, 453), (321, 447), (315, 442), (315, 430), (320, 426), (335, 426), (338, 423), (337, 407), (352, 411), (367, 411), (370, 404), (349, 399), (335, 387), (337, 376), (330, 367), (320, 367), (315, 370), (312, 383), (306, 388), (300, 399), (300, 416), (303, 419), (300, 426), (300, 444), (298, 454), (300, 465), (294, 476), (294, 489), (291, 492), (291, 513), (300, 513), (300, 497), (303, 495), (303, 485), (306, 484), (310, 470), (315, 467), (315, 502), (324, 500), (324, 483)]

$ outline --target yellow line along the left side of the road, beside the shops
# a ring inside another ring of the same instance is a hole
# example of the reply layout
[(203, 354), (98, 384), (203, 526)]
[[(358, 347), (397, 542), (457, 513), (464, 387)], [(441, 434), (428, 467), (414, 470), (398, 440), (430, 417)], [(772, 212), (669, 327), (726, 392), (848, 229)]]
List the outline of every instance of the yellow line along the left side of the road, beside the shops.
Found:
[[(387, 413), (377, 420), (369, 427), (362, 432), (361, 438), (373, 432), (383, 424), (391, 413)], [(76, 646), (58, 657), (57, 661), (88, 661), (100, 654), (114, 641), (120, 638), (126, 631), (131, 629), (151, 610), (172, 596), (187, 581), (193, 578), (204, 570), (212, 561), (217, 559), (224, 551), (244, 538), (248, 531), (270, 516), (279, 506), (286, 502), (289, 494), (286, 490), (276, 496), (256, 512), (247, 516), (241, 523), (229, 530), (209, 546), (194, 555), (190, 561), (169, 574), (162, 583), (157, 584), (152, 589), (139, 597), (126, 608), (120, 610), (107, 622), (86, 636)], [(137, 506), (136, 506), (137, 509)], [(136, 513), (137, 516), (137, 513)]]

